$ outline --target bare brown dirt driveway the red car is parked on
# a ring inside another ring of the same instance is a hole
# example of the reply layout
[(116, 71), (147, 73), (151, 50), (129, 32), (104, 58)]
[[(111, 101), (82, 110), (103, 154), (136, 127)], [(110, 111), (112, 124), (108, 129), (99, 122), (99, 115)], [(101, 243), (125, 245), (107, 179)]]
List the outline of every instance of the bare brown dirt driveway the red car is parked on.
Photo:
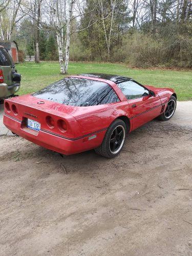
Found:
[(184, 112), (137, 129), (112, 160), (0, 137), (0, 255), (192, 255)]

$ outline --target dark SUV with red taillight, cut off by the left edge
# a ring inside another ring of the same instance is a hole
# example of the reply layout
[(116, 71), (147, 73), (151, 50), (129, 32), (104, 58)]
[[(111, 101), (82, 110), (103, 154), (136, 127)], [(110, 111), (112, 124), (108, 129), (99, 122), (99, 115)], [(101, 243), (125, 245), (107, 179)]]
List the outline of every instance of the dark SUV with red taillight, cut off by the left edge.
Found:
[(0, 101), (15, 96), (20, 88), (20, 78), (11, 55), (0, 46)]

